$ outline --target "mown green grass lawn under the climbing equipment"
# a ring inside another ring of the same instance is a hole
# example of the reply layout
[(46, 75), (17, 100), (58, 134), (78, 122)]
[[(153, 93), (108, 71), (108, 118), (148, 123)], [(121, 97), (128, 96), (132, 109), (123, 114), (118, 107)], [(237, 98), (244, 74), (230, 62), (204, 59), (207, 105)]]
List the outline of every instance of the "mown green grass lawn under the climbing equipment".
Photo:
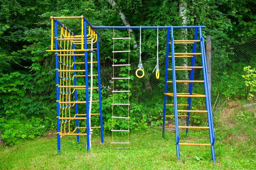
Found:
[[(223, 120), (215, 122), (216, 163), (212, 163), (210, 148), (199, 146), (180, 146), (178, 161), (174, 131), (166, 131), (162, 138), (161, 130), (156, 129), (151, 133), (131, 133), (130, 150), (113, 149), (109, 135), (105, 135), (103, 144), (100, 136), (93, 136), (89, 152), (84, 136), (80, 144), (76, 144), (75, 136), (61, 139), (61, 155), (56, 152), (56, 137), (0, 147), (0, 169), (253, 170), (256, 169), (256, 119), (238, 119), (238, 110), (234, 109), (234, 114), (225, 117), (227, 124), (221, 122)], [(254, 116), (250, 111), (244, 113)], [(116, 137), (116, 141), (125, 139), (127, 136)], [(208, 140), (207, 131), (190, 130), (188, 137), (184, 131), (180, 132), (180, 142), (209, 143)]]

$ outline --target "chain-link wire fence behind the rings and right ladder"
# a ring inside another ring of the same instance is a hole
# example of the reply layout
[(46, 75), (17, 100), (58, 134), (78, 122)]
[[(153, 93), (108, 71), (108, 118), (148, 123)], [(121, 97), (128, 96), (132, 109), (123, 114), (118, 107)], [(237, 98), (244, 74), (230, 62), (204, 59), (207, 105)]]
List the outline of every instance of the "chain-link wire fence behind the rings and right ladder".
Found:
[[(192, 52), (191, 45), (188, 45), (185, 48), (187, 49), (187, 52)], [(177, 46), (175, 47), (175, 52), (184, 52), (184, 48)], [(197, 52), (200, 52), (199, 48), (197, 49)], [(169, 54), (171, 55), (171, 52), (169, 52)], [(176, 59), (175, 62), (177, 66), (189, 66), (191, 64), (190, 60), (191, 59), (185, 60), (185, 58), (180, 58)], [(171, 63), (171, 58), (169, 58), (169, 68), (172, 68)], [(231, 98), (246, 96), (244, 79), (241, 75), (245, 73), (243, 70), (245, 66), (250, 65), (254, 68), (255, 64), (256, 36), (233, 40), (231, 43), (230, 41), (222, 41), (218, 43), (212, 42), (212, 100), (218, 95), (224, 95)], [(196, 56), (195, 66), (201, 66), (201, 55)], [(146, 105), (154, 105), (154, 103), (160, 105), (163, 104), (165, 60), (159, 61), (159, 79), (156, 79), (155, 71), (152, 73), (154, 67), (155, 65), (149, 65), (146, 61), (143, 61), (145, 76), (140, 79), (135, 75), (138, 68), (138, 62), (131, 64), (130, 75), (133, 76), (133, 79), (130, 81), (130, 84), (132, 94), (131, 100), (133, 103), (143, 102)], [(189, 79), (189, 73), (190, 71), (176, 71), (176, 79)], [(117, 72), (117, 74), (120, 74), (120, 72)], [(111, 95), (112, 91), (112, 76), (112, 67), (109, 69), (102, 69), (101, 82), (102, 86), (109, 89), (108, 95)], [(203, 80), (202, 69), (195, 69), (194, 80)], [(172, 71), (168, 72), (168, 81), (172, 81)], [(118, 82), (116, 85), (121, 89), (122, 83), (123, 82)], [(115, 88), (117, 86), (115, 86)], [(186, 84), (177, 83), (178, 93), (187, 93), (186, 91), (188, 91)], [(167, 92), (172, 93), (172, 83), (168, 83)], [(193, 93), (204, 94), (203, 83), (194, 83)], [(172, 101), (172, 97), (170, 97), (169, 101)]]

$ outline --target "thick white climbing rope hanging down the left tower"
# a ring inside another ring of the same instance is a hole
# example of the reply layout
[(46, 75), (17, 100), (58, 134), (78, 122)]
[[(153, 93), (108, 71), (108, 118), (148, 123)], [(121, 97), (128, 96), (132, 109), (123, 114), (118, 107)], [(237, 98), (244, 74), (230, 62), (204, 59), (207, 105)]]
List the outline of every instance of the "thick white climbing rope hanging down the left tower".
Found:
[[(93, 38), (91, 40), (91, 50), (93, 50)], [(90, 82), (90, 106), (89, 106), (89, 128), (90, 128), (90, 147), (91, 145), (91, 137), (93, 134), (93, 130), (91, 128), (91, 111), (92, 111), (92, 101), (93, 101), (93, 53), (91, 53), (91, 58), (90, 58), (90, 78), (91, 78), (91, 82)]]

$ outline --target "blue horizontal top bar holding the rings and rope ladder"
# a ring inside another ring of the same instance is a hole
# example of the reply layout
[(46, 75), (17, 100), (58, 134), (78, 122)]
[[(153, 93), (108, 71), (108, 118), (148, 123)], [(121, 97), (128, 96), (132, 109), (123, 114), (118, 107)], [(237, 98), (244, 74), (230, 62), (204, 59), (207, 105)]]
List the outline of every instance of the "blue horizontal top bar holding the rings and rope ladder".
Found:
[[(95, 26), (95, 29), (140, 29), (140, 26)], [(187, 28), (205, 28), (205, 26), (141, 26), (141, 29), (167, 29), (167, 28), (183, 28), (183, 29), (187, 29)]]

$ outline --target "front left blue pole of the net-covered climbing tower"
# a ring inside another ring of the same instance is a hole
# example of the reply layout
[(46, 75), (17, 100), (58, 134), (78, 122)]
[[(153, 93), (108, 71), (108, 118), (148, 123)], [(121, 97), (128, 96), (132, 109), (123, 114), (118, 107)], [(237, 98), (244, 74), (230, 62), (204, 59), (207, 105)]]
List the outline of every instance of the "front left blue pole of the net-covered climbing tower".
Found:
[[(57, 22), (54, 20), (54, 36), (58, 37), (58, 31), (57, 31), (58, 25)], [(55, 50), (58, 50), (58, 40), (55, 38)], [(55, 77), (56, 77), (56, 108), (57, 108), (57, 148), (58, 153), (61, 153), (61, 127), (60, 127), (60, 94), (59, 94), (59, 75), (58, 75), (58, 54), (55, 54)]]

